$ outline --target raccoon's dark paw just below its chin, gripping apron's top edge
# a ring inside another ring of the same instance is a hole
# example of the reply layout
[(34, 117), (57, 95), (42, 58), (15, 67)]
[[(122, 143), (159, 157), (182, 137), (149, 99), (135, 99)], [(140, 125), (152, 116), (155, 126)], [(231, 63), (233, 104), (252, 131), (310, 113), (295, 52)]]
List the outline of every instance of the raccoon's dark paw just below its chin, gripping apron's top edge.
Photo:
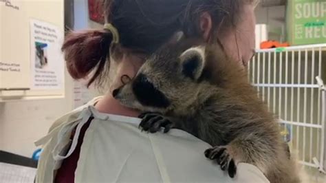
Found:
[(160, 131), (161, 127), (164, 127), (164, 133), (167, 133), (171, 128), (175, 126), (171, 120), (160, 113), (146, 112), (140, 114), (138, 117), (142, 118), (142, 121), (139, 125), (142, 127), (142, 130), (149, 131), (151, 133)]

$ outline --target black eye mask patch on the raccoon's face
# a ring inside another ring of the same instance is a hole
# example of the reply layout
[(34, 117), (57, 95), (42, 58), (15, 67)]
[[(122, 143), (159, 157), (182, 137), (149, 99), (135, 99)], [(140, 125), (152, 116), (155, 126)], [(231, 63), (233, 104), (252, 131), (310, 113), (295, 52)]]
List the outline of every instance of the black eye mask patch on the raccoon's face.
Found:
[(168, 98), (156, 89), (144, 74), (139, 74), (135, 78), (132, 88), (135, 97), (142, 105), (160, 108), (166, 108), (170, 105)]

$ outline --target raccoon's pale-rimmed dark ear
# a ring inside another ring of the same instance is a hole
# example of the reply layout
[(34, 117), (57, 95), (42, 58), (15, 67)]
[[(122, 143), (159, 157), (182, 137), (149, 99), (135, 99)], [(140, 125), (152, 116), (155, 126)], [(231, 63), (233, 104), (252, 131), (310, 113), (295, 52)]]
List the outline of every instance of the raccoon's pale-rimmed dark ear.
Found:
[(182, 73), (193, 80), (197, 80), (202, 76), (205, 66), (205, 47), (198, 46), (189, 48), (181, 54), (180, 61)]

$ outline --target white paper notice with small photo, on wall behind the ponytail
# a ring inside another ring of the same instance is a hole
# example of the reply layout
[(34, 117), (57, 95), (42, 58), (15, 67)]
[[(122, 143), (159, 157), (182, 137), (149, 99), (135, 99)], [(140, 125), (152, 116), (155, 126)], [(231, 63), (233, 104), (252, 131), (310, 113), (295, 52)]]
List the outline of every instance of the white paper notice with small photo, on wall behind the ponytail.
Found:
[(62, 89), (64, 59), (61, 53), (63, 32), (43, 21), (30, 21), (32, 89)]

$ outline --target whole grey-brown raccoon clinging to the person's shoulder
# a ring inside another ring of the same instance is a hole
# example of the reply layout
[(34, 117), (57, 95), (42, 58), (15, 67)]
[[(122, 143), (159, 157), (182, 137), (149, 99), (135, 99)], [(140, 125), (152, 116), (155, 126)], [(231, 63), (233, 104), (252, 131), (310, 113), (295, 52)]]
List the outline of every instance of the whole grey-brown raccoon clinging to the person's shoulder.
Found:
[(182, 129), (208, 142), (204, 155), (230, 177), (237, 164), (257, 166), (270, 182), (300, 182), (273, 114), (246, 71), (221, 45), (180, 39), (158, 49), (126, 85), (113, 91), (124, 106), (146, 111), (140, 127)]

